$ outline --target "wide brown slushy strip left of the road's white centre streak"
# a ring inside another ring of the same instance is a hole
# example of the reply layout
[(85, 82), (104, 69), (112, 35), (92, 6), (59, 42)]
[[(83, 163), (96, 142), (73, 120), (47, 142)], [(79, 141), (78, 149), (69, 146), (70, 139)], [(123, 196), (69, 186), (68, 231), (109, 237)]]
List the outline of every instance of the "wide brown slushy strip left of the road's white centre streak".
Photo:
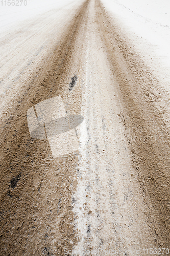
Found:
[(30, 136), (26, 115), (34, 104), (62, 94), (87, 4), (78, 9), (37, 74), (28, 78), (22, 98), (3, 121), (1, 255), (62, 255), (65, 246), (76, 244), (71, 198), (77, 154), (54, 160), (48, 141)]

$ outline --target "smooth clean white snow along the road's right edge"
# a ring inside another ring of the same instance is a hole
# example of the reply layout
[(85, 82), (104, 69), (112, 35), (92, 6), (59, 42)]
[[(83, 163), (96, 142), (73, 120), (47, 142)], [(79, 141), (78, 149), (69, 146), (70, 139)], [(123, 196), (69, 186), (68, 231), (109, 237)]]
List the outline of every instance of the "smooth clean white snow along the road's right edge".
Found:
[(134, 49), (170, 92), (170, 2), (167, 0), (102, 0), (131, 39)]

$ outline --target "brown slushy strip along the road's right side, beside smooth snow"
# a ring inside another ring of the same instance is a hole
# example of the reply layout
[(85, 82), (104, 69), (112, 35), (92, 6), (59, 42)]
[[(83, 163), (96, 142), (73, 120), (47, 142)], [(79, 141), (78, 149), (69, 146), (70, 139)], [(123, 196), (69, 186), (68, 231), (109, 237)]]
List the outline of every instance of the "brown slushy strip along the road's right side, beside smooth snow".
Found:
[[(169, 246), (169, 130), (163, 113), (154, 102), (164, 91), (149, 67), (128, 45), (116, 20), (110, 19), (101, 2), (96, 1), (96, 18), (100, 24), (119, 96), (124, 105), (121, 114), (129, 146), (132, 164), (149, 206), (148, 212), (157, 246)], [(156, 97), (156, 95), (159, 95)], [(154, 100), (153, 100), (154, 98)]]

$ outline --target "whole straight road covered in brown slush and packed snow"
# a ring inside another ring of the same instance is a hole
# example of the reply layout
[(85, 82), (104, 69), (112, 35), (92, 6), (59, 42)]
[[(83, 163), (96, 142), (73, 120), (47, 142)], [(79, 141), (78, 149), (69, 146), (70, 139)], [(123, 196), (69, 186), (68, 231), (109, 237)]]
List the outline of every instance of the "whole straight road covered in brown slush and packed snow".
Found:
[[(3, 110), (0, 254), (169, 248), (166, 95), (99, 0), (71, 15)], [(58, 158), (27, 122), (33, 105), (56, 96), (84, 117), (79, 150)]]

